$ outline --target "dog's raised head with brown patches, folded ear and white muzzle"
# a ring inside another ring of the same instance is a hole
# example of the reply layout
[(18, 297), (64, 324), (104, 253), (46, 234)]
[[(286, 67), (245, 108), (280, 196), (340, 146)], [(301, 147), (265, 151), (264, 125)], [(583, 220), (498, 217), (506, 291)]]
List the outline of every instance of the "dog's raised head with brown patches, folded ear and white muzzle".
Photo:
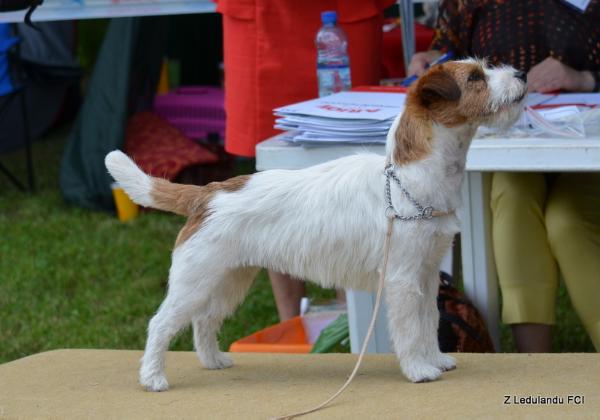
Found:
[(431, 151), (433, 125), (449, 129), (480, 125), (509, 127), (523, 109), (525, 73), (466, 59), (432, 67), (409, 90), (394, 130), (394, 160), (403, 164)]

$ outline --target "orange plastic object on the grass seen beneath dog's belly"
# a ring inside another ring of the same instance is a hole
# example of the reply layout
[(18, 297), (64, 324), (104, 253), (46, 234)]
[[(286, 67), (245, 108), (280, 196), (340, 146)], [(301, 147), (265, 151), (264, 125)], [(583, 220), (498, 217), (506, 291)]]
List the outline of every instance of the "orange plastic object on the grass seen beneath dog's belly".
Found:
[(309, 353), (311, 349), (299, 316), (241, 338), (229, 347), (233, 353)]

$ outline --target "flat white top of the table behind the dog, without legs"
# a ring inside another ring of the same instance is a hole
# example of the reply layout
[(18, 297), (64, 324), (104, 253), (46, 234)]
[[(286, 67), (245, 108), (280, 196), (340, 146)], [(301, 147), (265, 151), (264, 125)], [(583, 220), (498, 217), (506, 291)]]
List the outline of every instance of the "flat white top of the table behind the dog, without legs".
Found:
[[(256, 168), (300, 169), (361, 151), (385, 153), (383, 145), (302, 147), (272, 137), (256, 146)], [(468, 171), (586, 172), (600, 169), (600, 137), (587, 139), (475, 139)]]

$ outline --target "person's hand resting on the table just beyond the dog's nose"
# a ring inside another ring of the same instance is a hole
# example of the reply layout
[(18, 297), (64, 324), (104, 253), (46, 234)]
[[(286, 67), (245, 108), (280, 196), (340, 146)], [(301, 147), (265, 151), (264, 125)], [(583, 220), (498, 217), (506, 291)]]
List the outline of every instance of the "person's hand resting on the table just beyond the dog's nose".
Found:
[(530, 92), (591, 92), (594, 89), (594, 77), (589, 71), (577, 71), (548, 57), (529, 70), (527, 84)]

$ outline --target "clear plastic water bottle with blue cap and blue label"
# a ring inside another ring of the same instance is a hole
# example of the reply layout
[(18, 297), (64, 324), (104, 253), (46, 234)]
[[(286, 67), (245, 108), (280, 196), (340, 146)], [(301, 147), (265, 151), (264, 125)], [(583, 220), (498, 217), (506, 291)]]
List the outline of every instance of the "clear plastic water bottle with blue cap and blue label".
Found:
[(350, 60), (348, 39), (339, 26), (336, 26), (337, 13), (321, 13), (323, 26), (317, 32), (317, 78), (319, 96), (348, 90), (350, 81)]

